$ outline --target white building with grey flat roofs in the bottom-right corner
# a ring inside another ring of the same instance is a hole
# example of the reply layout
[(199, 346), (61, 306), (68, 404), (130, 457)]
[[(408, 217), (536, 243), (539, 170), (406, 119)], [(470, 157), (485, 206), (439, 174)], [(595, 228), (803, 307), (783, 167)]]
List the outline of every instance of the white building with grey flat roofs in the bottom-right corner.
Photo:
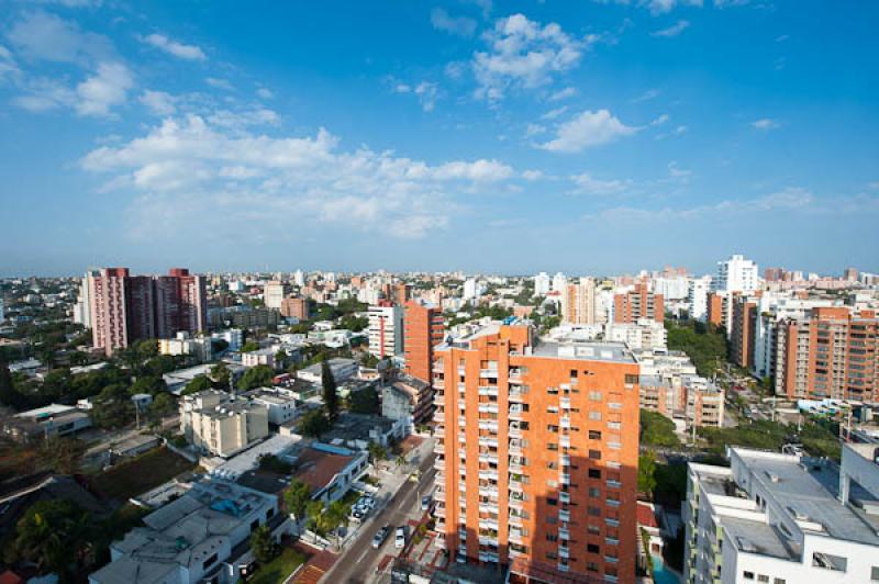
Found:
[(738, 447), (727, 450), (730, 468), (691, 462), (683, 581), (879, 581), (877, 448), (844, 443), (841, 465)]

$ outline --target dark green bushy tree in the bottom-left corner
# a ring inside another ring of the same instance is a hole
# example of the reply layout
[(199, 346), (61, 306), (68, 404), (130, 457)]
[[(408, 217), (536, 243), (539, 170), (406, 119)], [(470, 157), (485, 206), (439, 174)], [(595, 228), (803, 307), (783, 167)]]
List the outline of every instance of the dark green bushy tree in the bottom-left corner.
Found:
[(42, 573), (67, 574), (86, 549), (88, 531), (89, 515), (74, 502), (40, 501), (15, 526), (13, 554)]

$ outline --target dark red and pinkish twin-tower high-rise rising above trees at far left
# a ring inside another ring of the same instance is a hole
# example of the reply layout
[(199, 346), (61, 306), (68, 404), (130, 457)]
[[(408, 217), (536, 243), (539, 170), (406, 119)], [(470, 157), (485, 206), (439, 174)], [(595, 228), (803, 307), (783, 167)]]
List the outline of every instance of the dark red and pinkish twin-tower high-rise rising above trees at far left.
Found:
[(104, 268), (87, 280), (92, 344), (108, 356), (135, 340), (207, 328), (205, 282), (188, 270), (153, 278)]

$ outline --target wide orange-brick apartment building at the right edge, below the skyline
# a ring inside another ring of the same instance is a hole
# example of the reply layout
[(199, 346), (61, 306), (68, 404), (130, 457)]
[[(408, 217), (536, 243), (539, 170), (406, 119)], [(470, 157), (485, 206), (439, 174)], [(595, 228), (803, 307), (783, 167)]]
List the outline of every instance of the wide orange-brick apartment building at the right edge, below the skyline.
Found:
[(815, 307), (781, 325), (776, 371), (791, 398), (879, 401), (879, 318), (875, 311)]

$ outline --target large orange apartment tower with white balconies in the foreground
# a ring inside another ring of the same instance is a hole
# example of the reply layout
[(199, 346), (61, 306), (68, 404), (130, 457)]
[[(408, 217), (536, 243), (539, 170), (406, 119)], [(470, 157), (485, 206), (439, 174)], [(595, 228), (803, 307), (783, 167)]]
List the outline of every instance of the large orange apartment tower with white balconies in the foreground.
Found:
[(513, 582), (635, 582), (638, 371), (622, 344), (491, 324), (437, 347), (437, 527)]

